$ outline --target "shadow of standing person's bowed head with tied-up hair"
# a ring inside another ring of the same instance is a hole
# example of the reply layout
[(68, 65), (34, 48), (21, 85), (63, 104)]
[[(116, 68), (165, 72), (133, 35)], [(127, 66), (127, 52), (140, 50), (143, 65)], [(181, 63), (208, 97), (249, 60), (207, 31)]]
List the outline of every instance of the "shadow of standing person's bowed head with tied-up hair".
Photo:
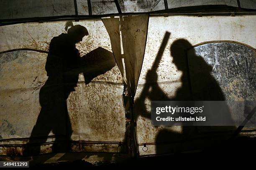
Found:
[[(68, 29), (68, 27), (71, 27)], [(65, 30), (72, 43), (77, 43), (83, 40), (85, 35), (89, 35), (88, 30), (82, 25), (73, 25), (72, 22), (67, 22)]]

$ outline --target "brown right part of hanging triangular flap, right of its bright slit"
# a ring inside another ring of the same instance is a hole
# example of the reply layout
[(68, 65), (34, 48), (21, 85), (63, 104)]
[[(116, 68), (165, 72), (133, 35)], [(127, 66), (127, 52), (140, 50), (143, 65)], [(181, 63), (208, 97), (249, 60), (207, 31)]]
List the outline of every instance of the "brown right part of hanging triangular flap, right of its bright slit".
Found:
[(123, 17), (123, 51), (126, 72), (126, 84), (134, 97), (138, 85), (144, 58), (146, 36), (148, 29), (148, 15)]

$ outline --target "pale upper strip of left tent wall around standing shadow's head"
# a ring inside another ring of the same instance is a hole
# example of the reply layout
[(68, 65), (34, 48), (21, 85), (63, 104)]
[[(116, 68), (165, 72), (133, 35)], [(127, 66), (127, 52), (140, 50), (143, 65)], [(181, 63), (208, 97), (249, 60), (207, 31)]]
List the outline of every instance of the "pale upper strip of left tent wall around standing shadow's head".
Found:
[[(88, 36), (84, 37), (81, 42), (76, 44), (81, 56), (97, 47), (111, 51), (108, 32), (101, 20), (73, 22), (73, 25), (82, 25), (87, 28), (89, 32)], [(61, 35), (61, 33), (67, 33), (65, 26), (65, 21), (1, 26), (0, 52), (17, 48), (49, 51), (51, 39)]]

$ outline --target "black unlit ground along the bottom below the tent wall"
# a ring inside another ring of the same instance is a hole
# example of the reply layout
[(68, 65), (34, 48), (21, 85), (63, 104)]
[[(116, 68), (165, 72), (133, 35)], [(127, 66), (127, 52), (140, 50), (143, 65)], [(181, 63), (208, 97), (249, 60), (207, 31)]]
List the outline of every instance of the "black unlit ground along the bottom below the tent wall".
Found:
[(116, 161), (89, 163), (84, 160), (30, 166), (33, 169), (256, 169), (256, 138), (239, 137), (203, 150)]

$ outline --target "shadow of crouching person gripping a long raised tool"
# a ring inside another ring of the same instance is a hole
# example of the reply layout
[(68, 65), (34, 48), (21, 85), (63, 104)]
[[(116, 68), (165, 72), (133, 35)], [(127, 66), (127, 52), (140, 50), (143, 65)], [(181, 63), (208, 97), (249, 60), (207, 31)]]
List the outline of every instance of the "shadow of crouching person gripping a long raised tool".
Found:
[[(142, 115), (143, 117), (151, 118), (151, 113), (146, 110), (145, 100), (148, 98), (151, 101), (165, 101), (165, 100), (193, 100), (192, 92), (190, 91), (189, 85), (189, 73), (188, 73), (188, 61), (187, 61), (187, 50), (192, 48), (192, 45), (184, 39), (175, 40), (171, 45), (171, 55), (172, 62), (177, 67), (177, 70), (182, 72), (182, 76), (180, 78), (182, 85), (177, 88), (174, 97), (168, 97), (166, 93), (159, 87), (157, 81), (158, 76), (156, 73), (156, 68), (159, 66), (159, 62), (161, 60), (161, 56), (163, 54), (163, 50), (166, 46), (167, 40), (169, 39), (168, 34), (165, 35), (164, 40), (159, 49), (158, 55), (154, 61), (151, 70), (147, 72), (146, 75), (146, 84), (143, 87), (143, 90), (140, 96), (135, 101), (136, 107), (136, 115)], [(193, 53), (193, 51), (190, 51)], [(202, 57), (197, 56), (194, 52), (192, 54), (193, 63), (195, 63), (195, 67), (200, 67), (201, 73), (197, 75), (196, 79), (193, 81), (197, 81), (197, 85), (204, 88), (202, 91), (198, 92), (195, 97), (197, 100), (225, 100), (222, 90), (220, 89), (218, 82), (212, 77), (210, 72), (212, 71), (212, 67), (208, 65)], [(195, 69), (195, 68), (193, 68)], [(204, 81), (208, 80), (207, 83)], [(209, 91), (210, 89), (210, 91)], [(208, 92), (207, 92), (208, 91)], [(193, 96), (194, 97), (194, 96)], [(230, 117), (230, 115), (225, 115), (226, 117)], [(187, 124), (188, 125), (188, 124)], [(161, 143), (168, 143), (177, 140), (184, 140), (184, 138), (189, 138), (189, 136), (193, 135), (196, 131), (196, 128), (193, 126), (182, 126), (181, 132), (177, 133), (172, 130), (162, 129), (159, 130), (156, 135), (156, 154), (164, 153), (164, 152), (175, 152), (175, 148), (166, 148), (161, 146)], [(177, 147), (179, 148), (179, 147)]]

